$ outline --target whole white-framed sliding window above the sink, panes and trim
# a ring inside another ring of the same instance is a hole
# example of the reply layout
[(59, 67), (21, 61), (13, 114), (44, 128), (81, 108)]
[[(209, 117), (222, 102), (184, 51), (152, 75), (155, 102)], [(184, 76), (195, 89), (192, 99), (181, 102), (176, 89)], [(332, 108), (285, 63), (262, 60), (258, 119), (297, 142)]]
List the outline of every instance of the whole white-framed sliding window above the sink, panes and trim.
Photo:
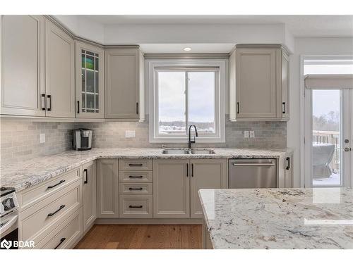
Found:
[(150, 142), (225, 142), (226, 59), (148, 60)]

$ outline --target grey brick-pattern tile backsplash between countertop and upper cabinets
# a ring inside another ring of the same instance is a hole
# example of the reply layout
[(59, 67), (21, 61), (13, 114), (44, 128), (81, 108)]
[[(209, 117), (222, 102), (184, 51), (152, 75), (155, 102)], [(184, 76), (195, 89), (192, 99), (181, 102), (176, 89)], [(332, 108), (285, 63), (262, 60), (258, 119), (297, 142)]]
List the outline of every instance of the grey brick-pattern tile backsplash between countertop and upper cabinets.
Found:
[[(148, 120), (148, 116), (146, 116)], [(160, 147), (148, 141), (146, 122), (32, 122), (1, 118), (1, 163), (24, 161), (28, 158), (59, 153), (71, 149), (71, 130), (85, 127), (93, 130), (92, 146), (109, 147)], [(196, 143), (196, 147), (234, 147), (284, 149), (287, 147), (287, 122), (258, 121), (230, 122), (226, 116), (226, 142), (217, 144)], [(134, 130), (135, 138), (126, 138), (125, 131)], [(244, 130), (254, 130), (255, 138), (244, 138)], [(40, 143), (40, 134), (45, 143)], [(197, 139), (196, 139), (197, 142)], [(166, 144), (186, 147), (187, 144)]]

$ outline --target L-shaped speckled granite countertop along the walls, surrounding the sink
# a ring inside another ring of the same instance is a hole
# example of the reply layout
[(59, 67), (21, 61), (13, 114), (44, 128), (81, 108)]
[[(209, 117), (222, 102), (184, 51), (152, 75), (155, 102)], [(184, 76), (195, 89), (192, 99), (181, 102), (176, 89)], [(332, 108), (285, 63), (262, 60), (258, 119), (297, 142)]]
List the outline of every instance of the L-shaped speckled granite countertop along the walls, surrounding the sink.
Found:
[(290, 151), (217, 148), (214, 150), (215, 154), (203, 155), (162, 154), (162, 149), (150, 148), (65, 151), (20, 163), (1, 165), (0, 187), (13, 187), (16, 191), (21, 191), (97, 158), (281, 158)]

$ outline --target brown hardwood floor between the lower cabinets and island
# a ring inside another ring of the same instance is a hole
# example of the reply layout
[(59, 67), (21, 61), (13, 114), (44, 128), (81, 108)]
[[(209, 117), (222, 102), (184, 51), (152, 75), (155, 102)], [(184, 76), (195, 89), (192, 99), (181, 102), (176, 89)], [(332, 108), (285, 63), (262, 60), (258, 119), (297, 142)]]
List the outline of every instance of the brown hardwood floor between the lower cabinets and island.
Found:
[(202, 225), (94, 225), (75, 249), (202, 249)]

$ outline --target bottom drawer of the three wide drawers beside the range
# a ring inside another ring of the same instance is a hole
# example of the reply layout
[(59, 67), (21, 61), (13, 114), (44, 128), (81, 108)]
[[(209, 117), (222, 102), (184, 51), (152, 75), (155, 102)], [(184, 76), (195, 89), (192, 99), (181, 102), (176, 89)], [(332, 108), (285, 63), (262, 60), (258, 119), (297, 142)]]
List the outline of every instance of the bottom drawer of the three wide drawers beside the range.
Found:
[(80, 208), (35, 245), (35, 249), (72, 249), (83, 232), (82, 222)]

